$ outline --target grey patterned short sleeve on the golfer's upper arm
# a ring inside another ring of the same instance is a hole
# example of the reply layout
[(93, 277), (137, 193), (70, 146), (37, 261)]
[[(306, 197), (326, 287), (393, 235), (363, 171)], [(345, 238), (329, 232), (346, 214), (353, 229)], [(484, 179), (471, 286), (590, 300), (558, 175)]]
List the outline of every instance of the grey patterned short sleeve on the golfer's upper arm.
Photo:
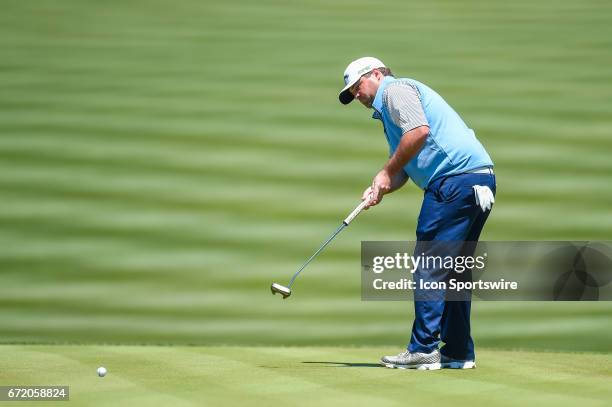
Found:
[(408, 84), (392, 85), (385, 92), (385, 103), (393, 123), (402, 134), (420, 126), (429, 126), (417, 90)]

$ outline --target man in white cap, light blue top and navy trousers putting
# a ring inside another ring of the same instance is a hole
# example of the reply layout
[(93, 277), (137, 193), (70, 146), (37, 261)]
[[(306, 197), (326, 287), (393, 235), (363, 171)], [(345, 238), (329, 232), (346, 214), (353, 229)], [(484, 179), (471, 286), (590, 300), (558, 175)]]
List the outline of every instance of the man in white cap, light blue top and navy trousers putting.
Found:
[[(372, 57), (359, 58), (344, 72), (339, 99), (359, 100), (382, 122), (389, 159), (363, 193), (368, 207), (401, 188), (410, 178), (424, 191), (416, 230), (419, 242), (477, 242), (495, 195), (493, 161), (446, 101), (428, 86), (395, 78)], [(467, 251), (473, 253), (473, 244)], [(420, 254), (420, 253), (419, 253)], [(463, 253), (465, 254), (465, 252)], [(471, 253), (470, 253), (471, 255)], [(415, 276), (422, 276), (417, 270)], [(470, 334), (470, 299), (419, 300), (407, 351), (384, 356), (386, 367), (467, 369), (475, 367)], [(443, 346), (440, 346), (443, 342)]]

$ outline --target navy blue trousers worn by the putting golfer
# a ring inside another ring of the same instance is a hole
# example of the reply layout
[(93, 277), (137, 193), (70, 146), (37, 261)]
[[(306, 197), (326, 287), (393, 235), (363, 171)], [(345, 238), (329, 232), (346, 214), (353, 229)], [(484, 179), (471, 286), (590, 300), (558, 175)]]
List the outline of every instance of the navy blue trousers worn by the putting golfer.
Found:
[[(434, 180), (425, 190), (417, 241), (477, 242), (490, 211), (483, 212), (476, 205), (473, 185), (488, 186), (495, 194), (495, 175), (460, 174)], [(473, 246), (467, 249), (471, 253), (463, 254), (472, 255)], [(408, 351), (430, 353), (441, 340), (443, 355), (475, 359), (470, 309), (471, 301), (415, 300)]]

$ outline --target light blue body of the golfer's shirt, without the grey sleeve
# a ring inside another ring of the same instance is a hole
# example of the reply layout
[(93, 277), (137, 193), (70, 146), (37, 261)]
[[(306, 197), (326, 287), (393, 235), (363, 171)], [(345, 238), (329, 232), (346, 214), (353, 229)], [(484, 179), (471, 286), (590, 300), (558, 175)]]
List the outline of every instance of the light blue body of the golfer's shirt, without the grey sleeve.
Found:
[(438, 93), (414, 79), (385, 76), (372, 103), (372, 117), (383, 123), (390, 155), (397, 149), (403, 132), (392, 120), (389, 106), (384, 103), (384, 95), (390, 84), (399, 81), (417, 90), (429, 124), (429, 136), (423, 147), (404, 166), (404, 171), (416, 185), (425, 189), (436, 178), (493, 166), (491, 157), (476, 138), (474, 131), (467, 127), (457, 112)]

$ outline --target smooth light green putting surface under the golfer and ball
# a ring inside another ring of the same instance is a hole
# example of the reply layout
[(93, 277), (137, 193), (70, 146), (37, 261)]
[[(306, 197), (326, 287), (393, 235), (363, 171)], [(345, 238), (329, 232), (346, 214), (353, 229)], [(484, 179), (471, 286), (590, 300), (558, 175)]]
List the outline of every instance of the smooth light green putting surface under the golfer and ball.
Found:
[[(612, 357), (480, 350), (474, 370), (379, 367), (383, 347), (0, 347), (2, 384), (70, 386), (78, 405), (605, 405)], [(104, 365), (109, 373), (96, 375)]]

